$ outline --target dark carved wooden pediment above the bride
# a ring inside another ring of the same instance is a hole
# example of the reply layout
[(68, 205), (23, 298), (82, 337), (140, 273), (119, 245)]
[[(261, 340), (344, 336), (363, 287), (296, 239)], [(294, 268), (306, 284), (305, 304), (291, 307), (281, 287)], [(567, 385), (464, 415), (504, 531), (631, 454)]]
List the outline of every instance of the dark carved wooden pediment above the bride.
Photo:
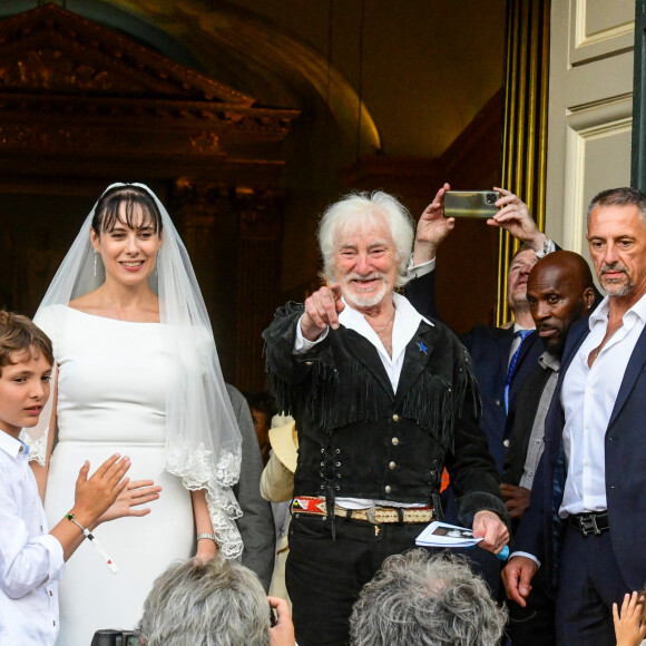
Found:
[(0, 20), (0, 170), (55, 156), (70, 173), (146, 159), (159, 176), (182, 166), (275, 177), (300, 112), (253, 104), (57, 4)]

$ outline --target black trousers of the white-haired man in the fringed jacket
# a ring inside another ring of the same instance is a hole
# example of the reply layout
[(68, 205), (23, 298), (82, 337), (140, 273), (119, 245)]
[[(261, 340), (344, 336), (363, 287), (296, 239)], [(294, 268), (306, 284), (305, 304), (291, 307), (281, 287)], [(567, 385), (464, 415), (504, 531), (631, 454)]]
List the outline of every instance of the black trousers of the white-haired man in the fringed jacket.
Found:
[(343, 646), (361, 588), (393, 554), (415, 547), (424, 525), (379, 525), (294, 513), (285, 580), (298, 646)]

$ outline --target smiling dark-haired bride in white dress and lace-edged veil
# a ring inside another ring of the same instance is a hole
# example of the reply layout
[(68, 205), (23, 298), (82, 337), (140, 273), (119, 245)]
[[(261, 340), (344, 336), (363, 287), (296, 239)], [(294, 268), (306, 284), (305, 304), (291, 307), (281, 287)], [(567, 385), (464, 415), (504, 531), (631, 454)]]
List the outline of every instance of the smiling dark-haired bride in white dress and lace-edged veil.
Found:
[(239, 431), (186, 249), (147, 187), (104, 193), (35, 321), (57, 368), (51, 422), (29, 433), (45, 464), (48, 520), (70, 508), (85, 459), (128, 454), (131, 480), (161, 486), (148, 516), (99, 528), (117, 575), (88, 546), (67, 566), (58, 644), (89, 646), (100, 628), (133, 629), (155, 578), (189, 557), (196, 539), (200, 559), (218, 546), (229, 558), (242, 551), (231, 491)]

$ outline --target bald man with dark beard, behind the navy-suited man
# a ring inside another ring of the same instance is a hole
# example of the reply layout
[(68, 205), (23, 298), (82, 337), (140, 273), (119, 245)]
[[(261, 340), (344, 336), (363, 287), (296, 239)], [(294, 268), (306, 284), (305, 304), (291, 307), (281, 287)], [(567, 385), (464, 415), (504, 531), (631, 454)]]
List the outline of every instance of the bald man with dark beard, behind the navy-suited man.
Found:
[[(545, 447), (545, 419), (559, 375), (567, 333), (575, 321), (587, 316), (595, 303), (590, 267), (572, 252), (555, 252), (531, 270), (527, 300), (544, 353), (527, 376), (511, 421), (500, 489), (515, 526), (529, 505), (534, 477)], [(512, 644), (554, 646), (555, 598), (541, 568), (532, 581), (526, 607), (510, 604), (509, 635)]]

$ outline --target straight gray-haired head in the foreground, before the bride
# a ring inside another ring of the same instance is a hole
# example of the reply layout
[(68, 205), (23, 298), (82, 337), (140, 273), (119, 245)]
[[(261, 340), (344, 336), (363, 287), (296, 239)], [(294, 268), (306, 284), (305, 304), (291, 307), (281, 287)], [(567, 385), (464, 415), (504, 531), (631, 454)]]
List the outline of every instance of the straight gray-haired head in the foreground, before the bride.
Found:
[(268, 646), (267, 597), (235, 560), (174, 564), (148, 594), (137, 636), (146, 646)]

